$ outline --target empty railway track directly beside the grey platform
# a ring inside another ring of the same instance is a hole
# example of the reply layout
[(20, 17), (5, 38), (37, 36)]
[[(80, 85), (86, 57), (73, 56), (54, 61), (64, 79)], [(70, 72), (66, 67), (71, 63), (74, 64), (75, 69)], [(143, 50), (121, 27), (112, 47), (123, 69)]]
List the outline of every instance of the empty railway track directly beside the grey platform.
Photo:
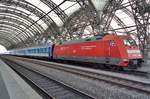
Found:
[(10, 60), (4, 59), (4, 61), (20, 75), (30, 80), (30, 82), (47, 94), (47, 96), (49, 96), (48, 99), (94, 99), (92, 96), (60, 81), (47, 77), (39, 71), (20, 66), (20, 64)]

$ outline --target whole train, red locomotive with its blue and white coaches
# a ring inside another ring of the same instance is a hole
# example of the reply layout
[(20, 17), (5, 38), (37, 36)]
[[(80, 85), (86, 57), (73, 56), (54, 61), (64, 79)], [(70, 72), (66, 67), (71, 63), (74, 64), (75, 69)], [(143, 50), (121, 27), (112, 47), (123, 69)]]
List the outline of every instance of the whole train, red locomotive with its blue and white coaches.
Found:
[(143, 55), (135, 40), (131, 36), (117, 34), (10, 50), (9, 55), (45, 57), (49, 60), (94, 63), (129, 69), (137, 69), (143, 63)]

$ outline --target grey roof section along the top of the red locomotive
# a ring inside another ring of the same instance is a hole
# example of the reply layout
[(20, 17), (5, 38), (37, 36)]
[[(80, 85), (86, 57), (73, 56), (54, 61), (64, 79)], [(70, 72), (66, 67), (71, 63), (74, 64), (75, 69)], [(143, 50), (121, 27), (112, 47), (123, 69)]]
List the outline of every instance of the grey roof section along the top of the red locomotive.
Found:
[(71, 41), (66, 41), (62, 42), (61, 44), (75, 44), (75, 43), (81, 43), (81, 42), (92, 42), (92, 41), (97, 41), (100, 40), (104, 37), (104, 35), (97, 35), (91, 38), (85, 38), (85, 39), (79, 39), (79, 40), (71, 40)]

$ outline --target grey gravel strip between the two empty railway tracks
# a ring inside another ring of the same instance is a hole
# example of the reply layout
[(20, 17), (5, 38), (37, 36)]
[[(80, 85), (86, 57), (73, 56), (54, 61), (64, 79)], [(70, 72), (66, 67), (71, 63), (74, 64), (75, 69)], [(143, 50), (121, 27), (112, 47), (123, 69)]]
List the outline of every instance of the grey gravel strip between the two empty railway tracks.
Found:
[(24, 66), (28, 68), (39, 70), (48, 76), (51, 76), (92, 96), (95, 96), (97, 99), (150, 99), (150, 95), (127, 90), (114, 85), (112, 86), (111, 84), (107, 84), (102, 81), (100, 82), (87, 79), (79, 75), (73, 75), (45, 66), (27, 63), (21, 60), (16, 60), (16, 62), (24, 64)]

